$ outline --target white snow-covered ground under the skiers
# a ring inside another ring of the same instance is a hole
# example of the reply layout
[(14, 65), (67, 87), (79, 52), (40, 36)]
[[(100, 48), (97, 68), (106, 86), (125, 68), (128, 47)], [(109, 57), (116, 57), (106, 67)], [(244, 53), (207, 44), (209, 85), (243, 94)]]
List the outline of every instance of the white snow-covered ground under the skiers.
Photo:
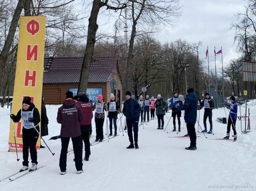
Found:
[[(47, 148), (38, 150), (38, 167), (47, 166), (13, 182), (8, 179), (0, 182), (0, 191), (256, 191), (255, 103), (249, 102), (252, 132), (241, 134), (240, 121), (237, 121), (239, 134), (236, 142), (212, 140), (226, 135), (226, 124), (216, 121), (216, 117), (225, 116), (223, 108), (213, 110), (214, 135), (206, 134), (206, 139), (198, 133), (200, 137), (195, 151), (184, 149), (189, 146), (189, 138), (168, 138), (187, 133), (186, 127), (183, 128), (183, 117), (179, 135), (156, 130), (157, 121), (153, 120), (144, 124), (144, 129), (139, 127), (138, 150), (126, 149), (128, 135), (124, 132), (122, 136), (120, 129), (116, 138), (91, 147), (90, 160), (83, 161), (84, 173), (75, 173), (74, 154), (68, 155), (66, 175), (60, 175), (59, 169), (61, 140), (48, 140), (60, 134), (60, 124), (56, 122), (59, 106), (47, 105), (49, 136), (44, 140), (56, 154), (52, 156)], [(242, 107), (242, 115), (244, 113)], [(7, 152), (9, 115), (9, 108), (0, 108), (0, 179), (22, 167), (22, 153), (18, 153), (20, 161), (17, 162), (16, 153)], [(170, 116), (171, 113), (167, 113), (164, 117), (164, 127)], [(203, 128), (202, 117), (203, 109), (199, 120)], [(95, 134), (94, 120), (93, 127)], [(171, 119), (167, 131), (172, 127)], [(197, 131), (198, 125), (195, 127)], [(106, 125), (104, 134), (105, 130)]]

